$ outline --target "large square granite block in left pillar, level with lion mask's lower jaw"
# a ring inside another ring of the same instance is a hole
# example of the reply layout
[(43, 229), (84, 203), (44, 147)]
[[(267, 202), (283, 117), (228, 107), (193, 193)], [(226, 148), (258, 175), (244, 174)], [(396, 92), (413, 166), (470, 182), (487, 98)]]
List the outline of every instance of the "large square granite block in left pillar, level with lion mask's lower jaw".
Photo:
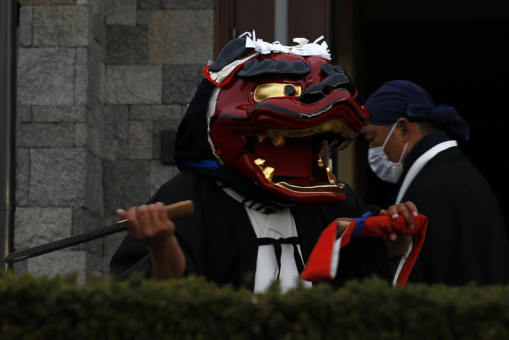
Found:
[(86, 169), (86, 149), (31, 149), (29, 204), (83, 206)]

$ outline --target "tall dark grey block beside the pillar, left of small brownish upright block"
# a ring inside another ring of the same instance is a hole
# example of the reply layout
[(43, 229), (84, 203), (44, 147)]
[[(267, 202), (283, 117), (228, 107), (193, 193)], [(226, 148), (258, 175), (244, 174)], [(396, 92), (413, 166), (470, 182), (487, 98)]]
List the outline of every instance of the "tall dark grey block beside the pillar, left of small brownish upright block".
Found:
[(107, 105), (104, 109), (104, 158), (129, 158), (129, 113), (127, 105)]

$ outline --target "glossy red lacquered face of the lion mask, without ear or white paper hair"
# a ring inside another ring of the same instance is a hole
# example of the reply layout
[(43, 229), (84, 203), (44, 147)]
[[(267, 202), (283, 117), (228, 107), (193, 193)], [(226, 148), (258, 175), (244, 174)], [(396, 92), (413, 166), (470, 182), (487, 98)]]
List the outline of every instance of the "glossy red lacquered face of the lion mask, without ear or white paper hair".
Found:
[[(225, 166), (277, 196), (310, 203), (343, 200), (343, 184), (330, 171), (327, 174), (319, 153), (328, 141), (346, 147), (369, 124), (369, 111), (355, 100), (357, 90), (341, 72), (324, 71), (323, 64), (330, 65), (324, 58), (274, 53), (258, 59), (302, 61), (310, 71), (234, 75), (221, 88), (210, 119), (216, 155)], [(348, 84), (338, 85), (337, 79)], [(291, 84), (300, 87), (301, 94), (256, 101), (255, 91), (263, 84)]]

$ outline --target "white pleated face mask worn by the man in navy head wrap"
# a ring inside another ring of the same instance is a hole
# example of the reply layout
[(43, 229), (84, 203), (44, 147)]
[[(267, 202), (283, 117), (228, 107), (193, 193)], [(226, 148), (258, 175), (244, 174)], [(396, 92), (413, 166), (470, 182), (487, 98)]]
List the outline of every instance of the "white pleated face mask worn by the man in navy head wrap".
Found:
[(392, 125), (389, 135), (383, 142), (382, 146), (367, 150), (367, 162), (370, 164), (371, 170), (373, 170), (380, 179), (391, 183), (397, 183), (398, 179), (400, 179), (401, 173), (403, 172), (403, 164), (401, 163), (401, 160), (403, 159), (403, 155), (405, 154), (408, 146), (408, 142), (406, 142), (398, 163), (389, 161), (387, 154), (383, 149), (392, 135), (396, 124), (398, 124), (398, 122), (395, 122), (394, 125)]

